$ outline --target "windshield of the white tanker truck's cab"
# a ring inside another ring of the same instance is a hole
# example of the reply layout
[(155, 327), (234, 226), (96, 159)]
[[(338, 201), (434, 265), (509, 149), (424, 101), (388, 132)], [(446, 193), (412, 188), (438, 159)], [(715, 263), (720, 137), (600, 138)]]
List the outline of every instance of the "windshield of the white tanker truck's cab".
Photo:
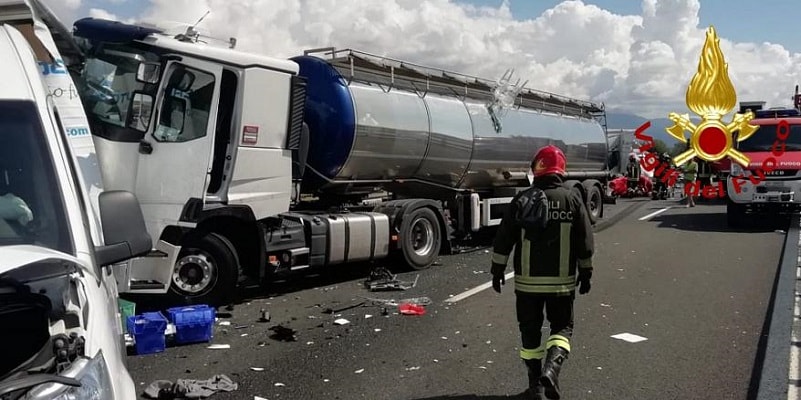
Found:
[(137, 73), (140, 64), (158, 62), (153, 53), (114, 45), (104, 45), (87, 57), (80, 94), (90, 118), (146, 131), (155, 85), (138, 80)]

